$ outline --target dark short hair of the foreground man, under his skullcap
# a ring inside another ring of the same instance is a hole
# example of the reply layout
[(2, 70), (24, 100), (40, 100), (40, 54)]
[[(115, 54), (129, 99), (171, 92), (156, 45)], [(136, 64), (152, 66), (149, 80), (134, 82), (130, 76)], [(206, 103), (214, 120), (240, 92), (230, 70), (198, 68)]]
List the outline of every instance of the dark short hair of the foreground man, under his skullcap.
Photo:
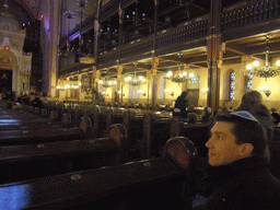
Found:
[(245, 119), (231, 114), (215, 116), (215, 121), (232, 122), (232, 133), (236, 138), (236, 144), (250, 143), (254, 147), (253, 156), (262, 156), (266, 149), (267, 136), (258, 121)]

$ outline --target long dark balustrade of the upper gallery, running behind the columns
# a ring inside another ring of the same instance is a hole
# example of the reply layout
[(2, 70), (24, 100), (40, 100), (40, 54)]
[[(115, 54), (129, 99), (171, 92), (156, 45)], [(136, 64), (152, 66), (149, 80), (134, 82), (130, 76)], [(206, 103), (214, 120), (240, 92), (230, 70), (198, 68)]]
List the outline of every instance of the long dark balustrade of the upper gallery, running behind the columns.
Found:
[[(237, 8), (228, 8), (221, 14), (221, 33), (235, 28), (245, 28), (250, 25), (257, 25), (269, 21), (278, 20), (280, 16), (280, 0), (259, 0), (258, 2), (242, 4)], [(209, 27), (209, 15), (182, 23), (180, 26), (159, 32), (156, 35), (156, 51), (163, 48), (173, 50), (173, 46), (184, 49), (184, 45), (195, 39), (207, 37)], [(273, 25), (272, 25), (273, 27)], [(278, 25), (275, 25), (278, 30)], [(272, 28), (273, 30), (273, 28)], [(257, 31), (254, 33), (258, 33)], [(233, 36), (234, 37), (234, 36)], [(115, 66), (120, 58), (120, 62), (129, 62), (151, 56), (153, 47), (152, 35), (136, 39), (131, 43), (107, 50), (97, 57), (100, 68)], [(172, 52), (172, 51), (170, 51)], [(120, 55), (120, 57), (119, 57)], [(132, 60), (133, 59), (133, 60)]]

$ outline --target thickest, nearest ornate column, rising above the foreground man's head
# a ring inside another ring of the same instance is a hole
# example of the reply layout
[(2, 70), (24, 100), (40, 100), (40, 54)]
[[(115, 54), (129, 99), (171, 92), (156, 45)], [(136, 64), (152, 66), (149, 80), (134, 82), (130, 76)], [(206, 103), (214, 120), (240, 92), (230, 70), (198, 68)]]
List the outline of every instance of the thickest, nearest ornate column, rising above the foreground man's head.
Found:
[(221, 47), (221, 0), (211, 0), (211, 15), (209, 36), (207, 37), (208, 49), (208, 101), (207, 106), (217, 110), (220, 101), (220, 71), (222, 65)]

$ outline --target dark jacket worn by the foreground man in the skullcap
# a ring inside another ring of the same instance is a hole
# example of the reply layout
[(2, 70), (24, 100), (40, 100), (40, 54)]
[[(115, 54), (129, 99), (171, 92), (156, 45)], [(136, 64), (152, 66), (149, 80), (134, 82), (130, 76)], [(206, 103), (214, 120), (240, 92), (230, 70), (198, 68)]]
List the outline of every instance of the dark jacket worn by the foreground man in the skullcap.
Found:
[(208, 198), (206, 210), (279, 210), (280, 182), (264, 159), (247, 158), (232, 164), (209, 167), (198, 192)]

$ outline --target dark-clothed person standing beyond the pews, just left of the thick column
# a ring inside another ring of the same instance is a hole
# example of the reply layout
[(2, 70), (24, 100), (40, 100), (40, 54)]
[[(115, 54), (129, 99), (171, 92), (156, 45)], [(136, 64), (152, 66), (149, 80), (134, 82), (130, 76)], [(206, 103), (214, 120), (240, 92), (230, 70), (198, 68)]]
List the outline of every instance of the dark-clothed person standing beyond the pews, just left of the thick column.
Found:
[(180, 95), (175, 101), (175, 106), (173, 109), (173, 116), (179, 116), (183, 118), (188, 117), (188, 101), (187, 101), (187, 91), (183, 91)]

